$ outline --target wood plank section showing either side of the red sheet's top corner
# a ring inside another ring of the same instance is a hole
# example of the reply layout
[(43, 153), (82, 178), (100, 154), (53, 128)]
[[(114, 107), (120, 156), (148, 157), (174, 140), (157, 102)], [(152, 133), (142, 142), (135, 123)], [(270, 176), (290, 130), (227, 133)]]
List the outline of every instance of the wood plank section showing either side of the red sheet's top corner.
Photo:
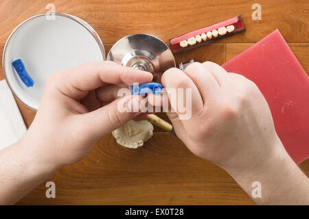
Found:
[[(252, 43), (228, 43), (227, 44), (227, 61), (236, 55), (242, 53), (249, 47), (253, 46)], [(309, 43), (288, 43), (288, 46), (293, 51), (301, 66), (303, 66), (307, 75), (309, 75)]]

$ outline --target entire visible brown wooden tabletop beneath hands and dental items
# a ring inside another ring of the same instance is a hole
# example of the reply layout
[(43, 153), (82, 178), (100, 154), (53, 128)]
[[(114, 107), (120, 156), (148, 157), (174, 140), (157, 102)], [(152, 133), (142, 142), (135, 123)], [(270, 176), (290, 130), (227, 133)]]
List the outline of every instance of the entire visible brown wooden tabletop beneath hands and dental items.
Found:
[[(246, 32), (176, 55), (176, 63), (194, 58), (223, 64), (279, 29), (309, 73), (309, 1), (258, 2), (262, 5), (260, 21), (251, 18), (255, 1), (247, 0), (1, 0), (0, 51), (2, 56), (14, 27), (34, 14), (47, 12), (47, 3), (54, 3), (56, 12), (87, 21), (102, 38), (106, 52), (129, 34), (153, 34), (168, 44), (174, 36), (242, 14)], [(29, 127), (36, 113), (17, 102)], [(309, 174), (309, 160), (299, 166)], [(135, 150), (117, 145), (111, 135), (105, 136), (81, 162), (60, 168), (48, 181), (56, 183), (56, 198), (45, 197), (43, 183), (19, 204), (253, 204), (225, 170), (198, 159), (178, 138), (159, 129)]]

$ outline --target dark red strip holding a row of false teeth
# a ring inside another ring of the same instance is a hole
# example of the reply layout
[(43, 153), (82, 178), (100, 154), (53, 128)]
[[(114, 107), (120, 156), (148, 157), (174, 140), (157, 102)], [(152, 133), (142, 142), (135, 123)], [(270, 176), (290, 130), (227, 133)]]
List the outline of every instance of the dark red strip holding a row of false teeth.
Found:
[(244, 27), (242, 16), (238, 15), (214, 25), (203, 27), (182, 36), (172, 38), (170, 40), (171, 49), (174, 54), (181, 53), (245, 30), (246, 28)]

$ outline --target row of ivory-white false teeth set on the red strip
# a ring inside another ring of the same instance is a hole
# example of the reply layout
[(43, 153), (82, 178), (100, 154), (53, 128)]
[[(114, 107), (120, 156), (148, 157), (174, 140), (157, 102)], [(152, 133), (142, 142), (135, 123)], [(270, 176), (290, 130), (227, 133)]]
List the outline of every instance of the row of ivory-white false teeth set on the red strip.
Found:
[(179, 42), (179, 44), (181, 47), (187, 47), (188, 44), (190, 46), (193, 46), (194, 44), (196, 44), (196, 42), (202, 42), (202, 40), (206, 41), (207, 38), (210, 40), (211, 38), (217, 37), (219, 35), (223, 36), (227, 33), (233, 32), (234, 29), (235, 29), (234, 25), (229, 25), (227, 27), (220, 27), (218, 29), (214, 29), (213, 31), (208, 31), (206, 34), (197, 35), (187, 40), (183, 40)]

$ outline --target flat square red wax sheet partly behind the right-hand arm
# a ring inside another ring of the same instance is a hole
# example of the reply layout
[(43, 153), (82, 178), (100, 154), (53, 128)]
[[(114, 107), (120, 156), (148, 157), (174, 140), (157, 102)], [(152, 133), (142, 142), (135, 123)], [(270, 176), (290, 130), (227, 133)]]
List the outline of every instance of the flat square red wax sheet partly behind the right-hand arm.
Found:
[(277, 134), (295, 163), (309, 157), (309, 78), (279, 30), (222, 65), (260, 88)]

